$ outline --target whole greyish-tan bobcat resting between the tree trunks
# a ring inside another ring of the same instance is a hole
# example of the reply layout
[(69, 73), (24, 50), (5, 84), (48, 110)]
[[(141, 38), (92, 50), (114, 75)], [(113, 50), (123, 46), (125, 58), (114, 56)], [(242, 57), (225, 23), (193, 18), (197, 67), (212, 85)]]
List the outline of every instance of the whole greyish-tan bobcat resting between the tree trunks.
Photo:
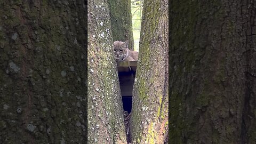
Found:
[(135, 61), (138, 60), (139, 52), (130, 51), (128, 49), (128, 41), (114, 42), (114, 52), (116, 61)]

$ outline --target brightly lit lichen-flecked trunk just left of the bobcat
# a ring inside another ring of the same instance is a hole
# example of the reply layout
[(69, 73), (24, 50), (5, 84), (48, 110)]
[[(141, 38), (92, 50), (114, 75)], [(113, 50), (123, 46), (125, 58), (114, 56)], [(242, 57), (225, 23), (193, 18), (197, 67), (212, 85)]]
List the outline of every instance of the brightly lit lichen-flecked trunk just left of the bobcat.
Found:
[(88, 3), (88, 143), (127, 143), (108, 4)]

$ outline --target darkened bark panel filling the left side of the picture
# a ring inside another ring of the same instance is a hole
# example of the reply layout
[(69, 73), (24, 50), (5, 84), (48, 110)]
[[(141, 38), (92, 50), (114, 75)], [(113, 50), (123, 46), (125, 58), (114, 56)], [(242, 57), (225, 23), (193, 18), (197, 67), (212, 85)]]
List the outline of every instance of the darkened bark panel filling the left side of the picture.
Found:
[(0, 143), (86, 141), (86, 2), (0, 2)]

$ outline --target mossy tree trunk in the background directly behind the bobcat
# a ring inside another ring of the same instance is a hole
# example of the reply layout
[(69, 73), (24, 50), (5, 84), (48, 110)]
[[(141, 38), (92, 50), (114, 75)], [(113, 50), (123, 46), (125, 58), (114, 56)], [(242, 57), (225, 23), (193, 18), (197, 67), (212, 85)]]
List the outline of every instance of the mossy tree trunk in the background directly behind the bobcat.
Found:
[(129, 50), (134, 50), (132, 34), (131, 1), (109, 0), (109, 11), (113, 41), (129, 40)]

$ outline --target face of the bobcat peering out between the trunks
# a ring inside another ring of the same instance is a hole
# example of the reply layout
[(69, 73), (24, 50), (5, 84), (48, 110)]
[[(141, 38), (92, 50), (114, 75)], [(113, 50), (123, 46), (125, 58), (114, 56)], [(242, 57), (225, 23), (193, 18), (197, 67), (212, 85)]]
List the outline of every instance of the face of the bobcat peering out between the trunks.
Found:
[(114, 54), (117, 61), (122, 61), (127, 55), (127, 42), (114, 42)]

